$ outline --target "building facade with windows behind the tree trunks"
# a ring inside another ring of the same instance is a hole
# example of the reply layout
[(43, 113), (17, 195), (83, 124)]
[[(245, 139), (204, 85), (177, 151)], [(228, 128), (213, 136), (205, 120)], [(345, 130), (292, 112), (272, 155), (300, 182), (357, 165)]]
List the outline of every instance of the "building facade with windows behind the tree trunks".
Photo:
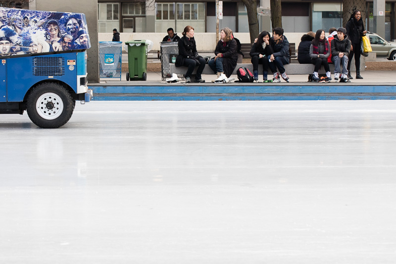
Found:
[[(257, 6), (259, 2), (257, 2)], [(285, 32), (307, 32), (342, 26), (342, 0), (282, 1), (282, 24)], [(366, 2), (366, 26), (373, 30), (373, 1)], [(396, 0), (386, 1), (385, 37), (396, 38)], [(172, 27), (175, 32), (182, 32), (186, 25), (191, 25), (196, 32), (216, 31), (215, 0), (203, 2), (183, 0), (98, 0), (99, 33), (112, 32), (166, 32)], [(248, 32), (247, 11), (242, 1), (223, 0), (223, 19), (219, 27), (229, 27), (234, 32)], [(270, 30), (261, 29), (261, 30)]]

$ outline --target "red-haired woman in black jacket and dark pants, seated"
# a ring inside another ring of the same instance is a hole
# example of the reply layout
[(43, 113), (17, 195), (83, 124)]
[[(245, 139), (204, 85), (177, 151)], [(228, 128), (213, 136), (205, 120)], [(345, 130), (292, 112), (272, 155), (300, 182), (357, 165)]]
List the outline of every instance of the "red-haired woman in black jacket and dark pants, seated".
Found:
[(186, 83), (191, 83), (191, 75), (196, 66), (198, 66), (197, 74), (195, 76), (196, 83), (204, 83), (202, 80), (202, 71), (205, 68), (205, 59), (198, 55), (197, 45), (194, 39), (194, 28), (192, 26), (186, 26), (183, 31), (183, 37), (178, 41), (179, 55), (176, 57), (175, 66), (188, 67), (185, 74)]

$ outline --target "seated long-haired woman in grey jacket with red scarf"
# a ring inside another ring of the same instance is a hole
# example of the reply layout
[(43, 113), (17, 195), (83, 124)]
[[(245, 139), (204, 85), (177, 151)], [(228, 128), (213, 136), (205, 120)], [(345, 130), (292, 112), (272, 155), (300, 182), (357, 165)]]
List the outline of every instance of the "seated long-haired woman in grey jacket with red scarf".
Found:
[(326, 70), (326, 78), (320, 81), (330, 82), (331, 72), (329, 62), (327, 61), (327, 58), (330, 56), (330, 45), (325, 38), (325, 31), (323, 29), (316, 31), (315, 38), (309, 48), (309, 56), (312, 59), (312, 64), (315, 65), (312, 81), (319, 81), (318, 71), (320, 66), (323, 65)]

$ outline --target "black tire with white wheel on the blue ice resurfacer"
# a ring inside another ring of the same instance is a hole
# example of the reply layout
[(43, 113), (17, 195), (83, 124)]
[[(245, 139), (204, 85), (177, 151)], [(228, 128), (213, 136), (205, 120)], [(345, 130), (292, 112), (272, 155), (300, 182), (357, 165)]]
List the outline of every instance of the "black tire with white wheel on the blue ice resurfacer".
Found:
[[(41, 106), (37, 107), (39, 101)], [(44, 104), (45, 102), (48, 103)], [(37, 126), (58, 128), (69, 121), (75, 103), (63, 86), (56, 83), (42, 83), (34, 87), (30, 93), (26, 103), (26, 111), (30, 120)], [(56, 111), (56, 107), (59, 107), (60, 110)]]

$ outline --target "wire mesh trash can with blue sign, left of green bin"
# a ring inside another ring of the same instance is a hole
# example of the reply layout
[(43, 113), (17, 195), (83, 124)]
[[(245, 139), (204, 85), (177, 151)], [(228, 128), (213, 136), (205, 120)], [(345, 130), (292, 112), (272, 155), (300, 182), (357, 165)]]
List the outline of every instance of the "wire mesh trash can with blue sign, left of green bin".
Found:
[(99, 78), (121, 80), (122, 42), (99, 42)]

